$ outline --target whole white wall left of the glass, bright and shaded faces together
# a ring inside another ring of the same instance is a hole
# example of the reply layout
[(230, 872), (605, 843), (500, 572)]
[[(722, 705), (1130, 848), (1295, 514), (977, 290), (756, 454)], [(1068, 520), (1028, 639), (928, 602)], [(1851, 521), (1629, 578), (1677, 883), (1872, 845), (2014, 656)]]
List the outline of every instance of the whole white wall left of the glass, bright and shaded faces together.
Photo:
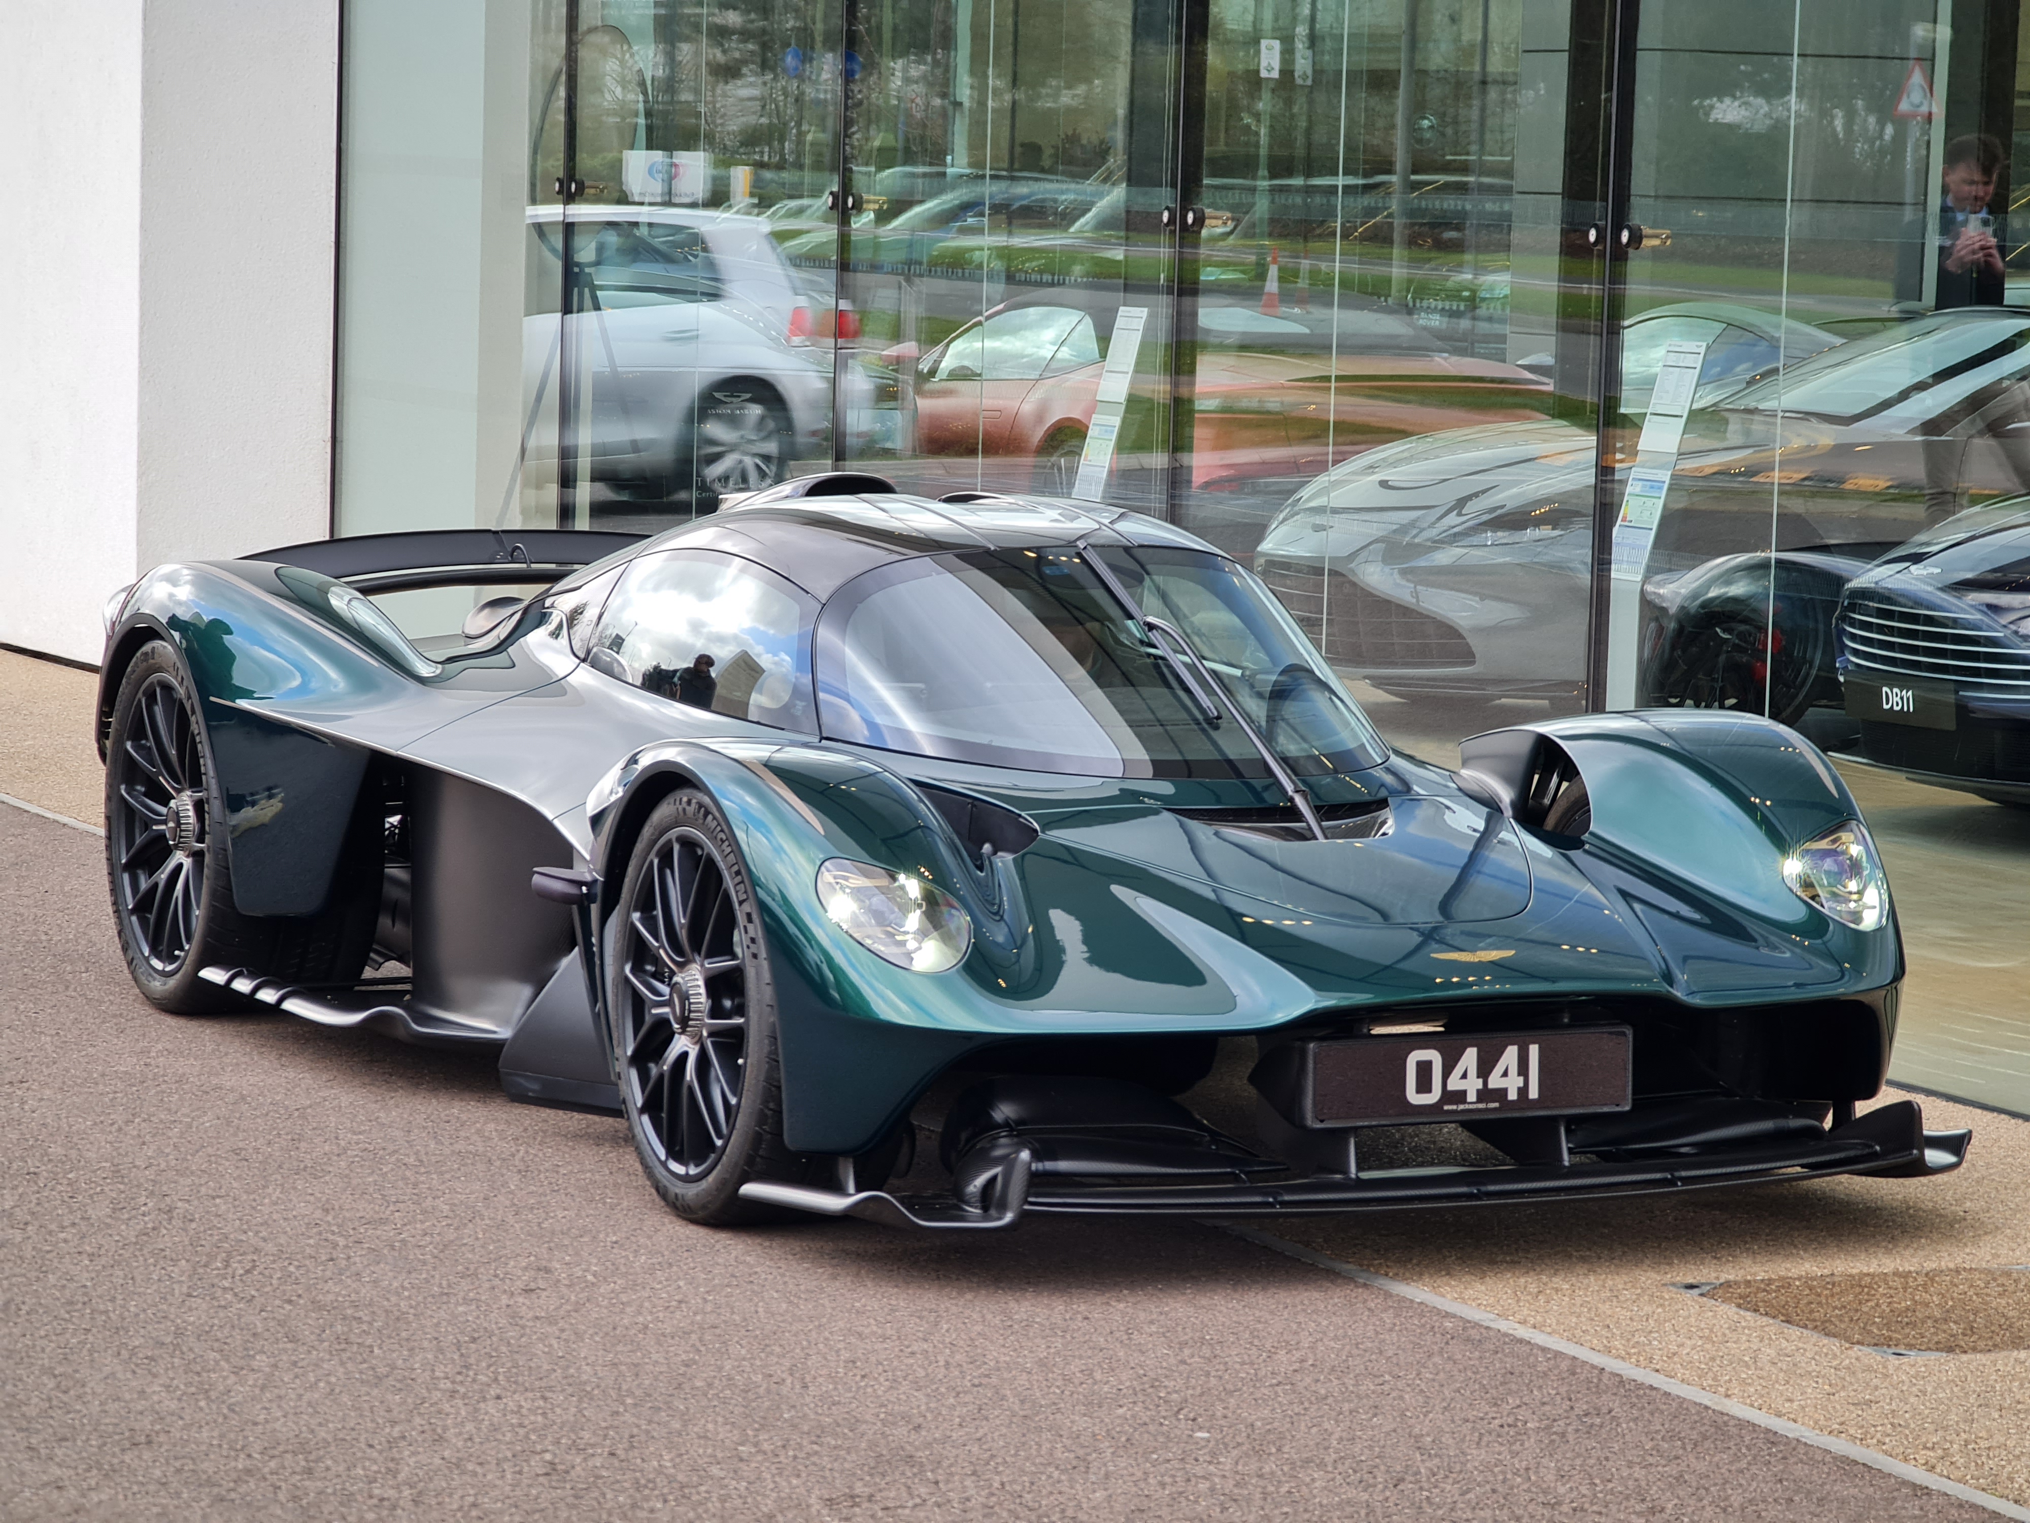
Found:
[(0, 4), (0, 642), (329, 532), (337, 0)]

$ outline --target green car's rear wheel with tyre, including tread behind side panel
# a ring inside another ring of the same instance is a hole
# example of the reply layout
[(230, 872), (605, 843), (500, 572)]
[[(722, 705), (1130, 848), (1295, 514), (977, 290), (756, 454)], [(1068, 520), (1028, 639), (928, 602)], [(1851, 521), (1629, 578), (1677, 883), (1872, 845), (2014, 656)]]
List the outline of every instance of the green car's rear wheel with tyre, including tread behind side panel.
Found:
[[(361, 800), (367, 790), (361, 788)], [(233, 906), (225, 796), (177, 654), (156, 640), (120, 680), (106, 757), (106, 879), (134, 985), (179, 1015), (246, 1009), (199, 971), (250, 969), (288, 983), (349, 983), (380, 908), (380, 833), (355, 808), (321, 914), (244, 916)]]

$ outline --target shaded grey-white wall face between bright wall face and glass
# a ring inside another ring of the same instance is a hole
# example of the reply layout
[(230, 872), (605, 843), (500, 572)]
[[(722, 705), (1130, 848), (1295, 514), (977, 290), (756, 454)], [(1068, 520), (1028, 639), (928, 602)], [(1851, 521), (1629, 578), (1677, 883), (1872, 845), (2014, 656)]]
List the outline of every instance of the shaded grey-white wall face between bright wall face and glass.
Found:
[(337, 79), (337, 0), (148, 0), (142, 567), (331, 532)]

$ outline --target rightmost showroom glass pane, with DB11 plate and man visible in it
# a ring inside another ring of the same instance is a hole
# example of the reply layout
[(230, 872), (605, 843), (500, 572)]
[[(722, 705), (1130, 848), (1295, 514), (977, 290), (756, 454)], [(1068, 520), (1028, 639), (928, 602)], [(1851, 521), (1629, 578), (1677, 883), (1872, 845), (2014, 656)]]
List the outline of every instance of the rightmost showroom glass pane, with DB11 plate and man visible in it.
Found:
[(2014, 1109), (2030, 1105), (2030, 1064), (2008, 1056), (2026, 1050), (2030, 973), (2018, 10), (1644, 8), (1608, 670), (1614, 707), (1768, 713), (1833, 753), (1910, 948), (1896, 1074)]

